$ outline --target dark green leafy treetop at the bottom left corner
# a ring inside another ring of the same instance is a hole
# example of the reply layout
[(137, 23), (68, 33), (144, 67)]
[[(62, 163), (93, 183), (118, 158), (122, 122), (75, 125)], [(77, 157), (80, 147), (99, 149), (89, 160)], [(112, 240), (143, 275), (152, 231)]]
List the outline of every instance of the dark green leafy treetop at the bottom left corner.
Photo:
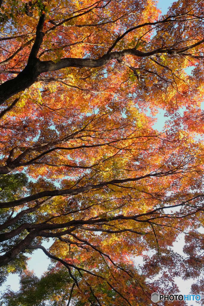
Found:
[(46, 301), (50, 300), (50, 305), (67, 305), (69, 292), (73, 292), (75, 283), (65, 269), (50, 267), (41, 278), (37, 278), (32, 271), (24, 271), (19, 292), (8, 290), (3, 297), (4, 303), (10, 306), (46, 305)]

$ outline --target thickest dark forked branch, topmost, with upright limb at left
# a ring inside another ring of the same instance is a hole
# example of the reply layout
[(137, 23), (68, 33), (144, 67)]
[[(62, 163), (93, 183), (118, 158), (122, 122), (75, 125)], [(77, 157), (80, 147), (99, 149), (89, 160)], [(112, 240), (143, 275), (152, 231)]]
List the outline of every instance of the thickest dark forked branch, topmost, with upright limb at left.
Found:
[[(83, 13), (84, 14), (84, 13)], [(39, 59), (36, 58), (38, 50), (40, 48), (40, 45), (43, 40), (43, 33), (42, 33), (42, 28), (43, 28), (43, 21), (45, 19), (45, 14), (42, 14), (39, 20), (39, 24), (37, 26), (37, 31), (36, 31), (36, 40), (35, 43), (33, 44), (31, 53), (28, 58), (28, 65), (25, 67), (25, 69), (18, 74), (15, 78), (8, 80), (4, 82), (0, 86), (0, 104), (2, 104), (4, 101), (9, 99), (12, 95), (24, 90), (25, 88), (31, 86), (36, 78), (41, 74), (45, 72), (51, 72), (51, 71), (56, 71), (59, 69), (67, 68), (67, 67), (77, 67), (77, 68), (83, 68), (83, 67), (89, 67), (89, 68), (96, 68), (96, 67), (101, 67), (103, 65), (106, 65), (108, 62), (111, 60), (121, 60), (124, 56), (127, 55), (134, 55), (137, 57), (148, 57), (154, 54), (159, 54), (159, 53), (167, 53), (167, 54), (182, 54), (187, 50), (190, 50), (194, 47), (197, 47), (198, 45), (202, 44), (204, 42), (204, 39), (198, 41), (195, 44), (192, 44), (187, 47), (182, 47), (180, 49), (174, 49), (174, 48), (158, 48), (155, 50), (151, 50), (149, 52), (142, 52), (140, 50), (137, 50), (135, 48), (132, 49), (125, 49), (122, 51), (115, 51), (111, 52), (111, 50), (115, 47), (117, 42), (121, 40), (126, 34), (129, 32), (133, 31), (136, 28), (143, 27), (146, 25), (151, 25), (151, 24), (165, 24), (169, 22), (177, 22), (177, 20), (171, 20), (169, 18), (176, 18), (176, 17), (181, 17), (184, 16), (185, 14), (181, 14), (178, 16), (168, 16), (162, 21), (156, 21), (156, 22), (150, 22), (150, 23), (144, 23), (141, 25), (138, 25), (137, 27), (133, 27), (129, 30), (127, 30), (123, 35), (119, 36), (115, 43), (109, 48), (108, 52), (104, 54), (102, 57), (98, 59), (89, 59), (89, 58), (62, 58), (59, 62), (55, 63), (53, 61), (45, 61), (45, 62), (40, 62)], [(73, 16), (74, 17), (74, 16)], [(72, 17), (70, 17), (72, 18)], [(69, 19), (69, 18), (68, 18)], [(66, 21), (63, 21), (66, 22)], [(52, 29), (54, 29), (53, 27)], [(51, 29), (50, 29), (51, 30)]]

